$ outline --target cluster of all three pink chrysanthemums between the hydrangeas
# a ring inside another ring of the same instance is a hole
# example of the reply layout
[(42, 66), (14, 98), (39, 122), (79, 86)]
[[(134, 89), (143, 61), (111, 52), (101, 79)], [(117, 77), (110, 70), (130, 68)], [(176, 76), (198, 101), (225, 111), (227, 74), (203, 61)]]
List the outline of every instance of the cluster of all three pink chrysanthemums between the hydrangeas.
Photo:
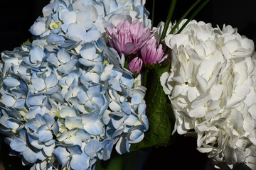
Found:
[(143, 26), (143, 23), (134, 21), (121, 21), (117, 26), (108, 26), (107, 35), (111, 47), (117, 52), (131, 57), (128, 68), (134, 74), (139, 74), (142, 65), (153, 65), (161, 63), (166, 57), (163, 57), (164, 50), (162, 45), (154, 39), (155, 30)]

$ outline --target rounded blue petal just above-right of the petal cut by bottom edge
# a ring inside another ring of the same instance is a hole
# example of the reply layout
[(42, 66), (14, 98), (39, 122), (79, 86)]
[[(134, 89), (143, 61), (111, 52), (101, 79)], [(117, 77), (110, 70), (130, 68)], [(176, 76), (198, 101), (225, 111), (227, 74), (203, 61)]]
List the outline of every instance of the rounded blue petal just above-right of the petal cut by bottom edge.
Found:
[(92, 139), (85, 145), (85, 154), (93, 157), (100, 149), (102, 149), (102, 144), (98, 140)]

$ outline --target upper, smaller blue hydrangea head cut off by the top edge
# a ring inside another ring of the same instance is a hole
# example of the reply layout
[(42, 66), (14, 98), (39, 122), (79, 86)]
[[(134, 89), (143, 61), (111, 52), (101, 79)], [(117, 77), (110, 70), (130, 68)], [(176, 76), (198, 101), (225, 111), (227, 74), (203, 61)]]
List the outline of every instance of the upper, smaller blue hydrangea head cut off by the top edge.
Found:
[(119, 21), (139, 20), (144, 26), (151, 26), (144, 4), (140, 0), (52, 1), (43, 8), (43, 16), (30, 31), (42, 38), (50, 35), (47, 39), (50, 43), (63, 43), (66, 36), (83, 44), (98, 40), (107, 26)]

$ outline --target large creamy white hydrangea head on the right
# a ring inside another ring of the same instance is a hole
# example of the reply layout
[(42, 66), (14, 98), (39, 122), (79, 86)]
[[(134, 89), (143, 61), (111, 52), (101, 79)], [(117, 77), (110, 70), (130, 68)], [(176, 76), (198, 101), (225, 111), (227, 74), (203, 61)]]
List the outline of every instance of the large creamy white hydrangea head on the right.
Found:
[(174, 131), (196, 132), (198, 150), (217, 162), (252, 168), (256, 163), (252, 40), (231, 26), (220, 30), (191, 21), (181, 34), (167, 35), (165, 42), (172, 49), (171, 72), (161, 76), (161, 85), (174, 109)]

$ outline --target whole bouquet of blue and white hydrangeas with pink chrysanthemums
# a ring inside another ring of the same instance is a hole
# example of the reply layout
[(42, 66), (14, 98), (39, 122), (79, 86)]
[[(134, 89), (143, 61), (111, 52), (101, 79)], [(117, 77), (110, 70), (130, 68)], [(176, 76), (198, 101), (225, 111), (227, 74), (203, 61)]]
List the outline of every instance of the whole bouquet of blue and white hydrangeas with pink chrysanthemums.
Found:
[(216, 167), (255, 169), (255, 46), (232, 26), (193, 20), (208, 1), (172, 23), (172, 0), (157, 27), (146, 1), (50, 1), (33, 39), (1, 52), (10, 154), (31, 170), (97, 169), (178, 132)]

